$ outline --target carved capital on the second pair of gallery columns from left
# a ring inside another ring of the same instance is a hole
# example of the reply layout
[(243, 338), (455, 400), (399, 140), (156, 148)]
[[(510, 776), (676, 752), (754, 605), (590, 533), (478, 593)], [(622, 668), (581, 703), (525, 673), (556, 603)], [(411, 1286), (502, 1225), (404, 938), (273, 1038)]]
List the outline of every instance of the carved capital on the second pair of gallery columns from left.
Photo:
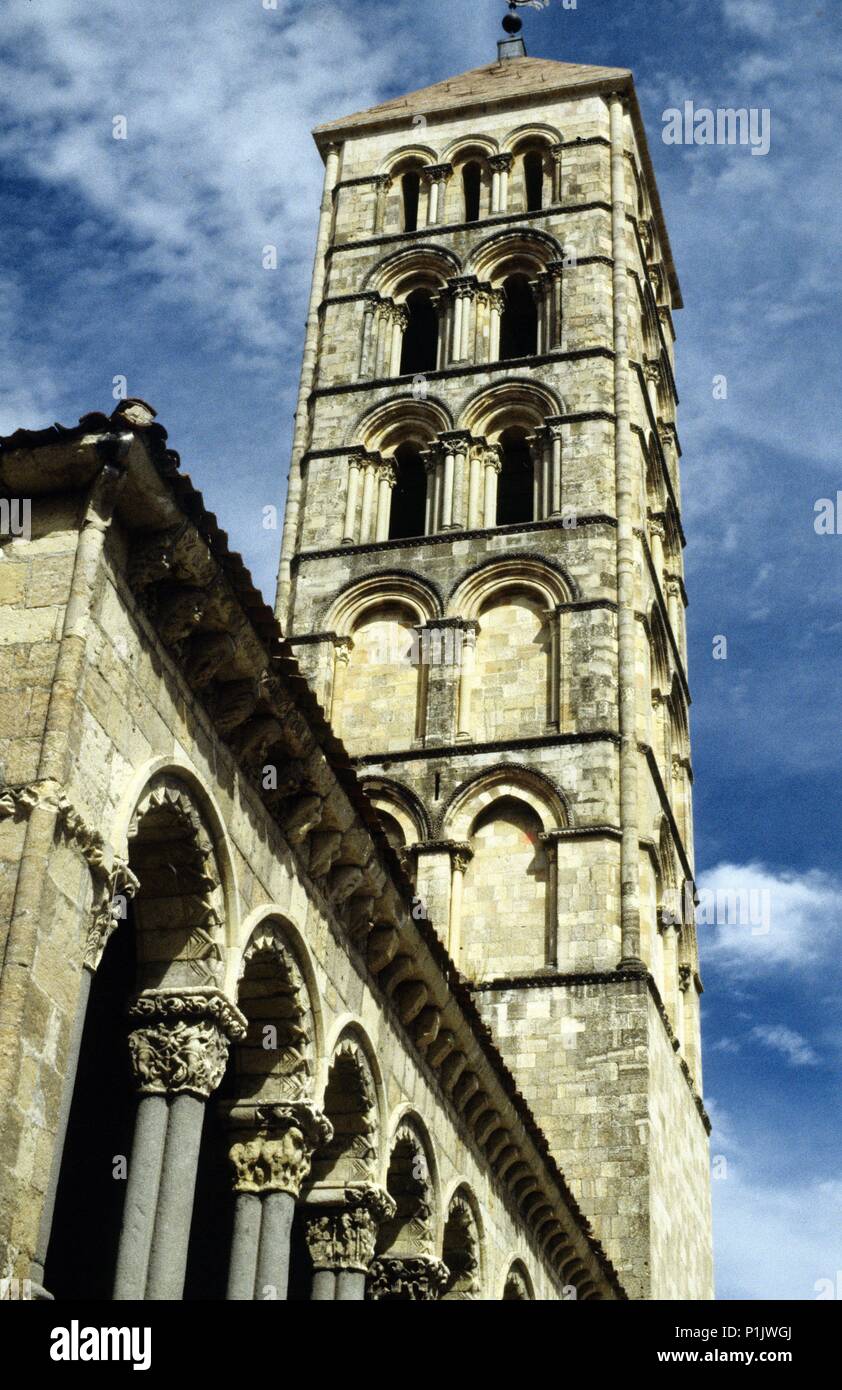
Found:
[[(240, 1116), (232, 1115), (235, 1123)], [(243, 1133), (228, 1151), (236, 1193), (289, 1193), (299, 1197), (313, 1154), (329, 1144), (333, 1126), (308, 1101), (258, 1106), (257, 1130)]]

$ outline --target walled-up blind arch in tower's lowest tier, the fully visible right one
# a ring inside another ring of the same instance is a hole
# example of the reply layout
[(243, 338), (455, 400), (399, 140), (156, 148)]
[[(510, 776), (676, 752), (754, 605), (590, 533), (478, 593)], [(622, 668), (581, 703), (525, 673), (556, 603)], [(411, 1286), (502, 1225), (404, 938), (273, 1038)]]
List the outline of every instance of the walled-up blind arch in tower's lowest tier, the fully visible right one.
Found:
[(538, 813), (500, 796), (474, 821), (463, 890), (459, 967), (468, 980), (529, 974), (546, 965), (549, 865)]

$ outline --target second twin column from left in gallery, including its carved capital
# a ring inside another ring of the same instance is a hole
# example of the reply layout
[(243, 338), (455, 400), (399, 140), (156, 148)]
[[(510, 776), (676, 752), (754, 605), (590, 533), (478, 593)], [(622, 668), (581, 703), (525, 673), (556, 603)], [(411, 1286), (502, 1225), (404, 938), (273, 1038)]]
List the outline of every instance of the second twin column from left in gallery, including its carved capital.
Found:
[(285, 1300), (295, 1204), (333, 1126), (308, 1101), (236, 1106), (229, 1123), (238, 1133), (228, 1155), (236, 1209), (226, 1297)]

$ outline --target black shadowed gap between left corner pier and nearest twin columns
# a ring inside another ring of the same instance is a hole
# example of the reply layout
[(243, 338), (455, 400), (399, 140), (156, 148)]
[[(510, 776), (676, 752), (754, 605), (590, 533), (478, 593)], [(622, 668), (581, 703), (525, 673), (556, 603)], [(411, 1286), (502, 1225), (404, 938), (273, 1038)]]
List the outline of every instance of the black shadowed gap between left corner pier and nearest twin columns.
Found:
[(113, 1291), (135, 1123), (125, 1016), (138, 972), (132, 917), (129, 906), (90, 986), (44, 1269), (58, 1301)]

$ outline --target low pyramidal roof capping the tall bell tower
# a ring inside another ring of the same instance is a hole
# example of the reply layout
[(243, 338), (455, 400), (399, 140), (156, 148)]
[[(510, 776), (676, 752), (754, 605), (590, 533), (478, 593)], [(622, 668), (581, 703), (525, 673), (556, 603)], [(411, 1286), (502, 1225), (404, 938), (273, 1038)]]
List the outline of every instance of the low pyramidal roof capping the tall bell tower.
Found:
[(381, 101), (367, 111), (328, 121), (325, 125), (318, 125), (313, 133), (321, 143), (322, 138), (339, 132), (350, 133), (367, 125), (389, 125), (392, 121), (406, 121), (413, 115), (431, 115), (454, 108), (468, 111), (542, 93), (549, 97), (550, 93), (582, 92), (589, 88), (606, 90), (629, 85), (628, 68), (588, 67), (584, 63), (556, 63), (553, 58), (503, 58), (482, 68), (471, 68), (470, 72), (461, 72), (445, 82), (435, 82), (418, 92)]

